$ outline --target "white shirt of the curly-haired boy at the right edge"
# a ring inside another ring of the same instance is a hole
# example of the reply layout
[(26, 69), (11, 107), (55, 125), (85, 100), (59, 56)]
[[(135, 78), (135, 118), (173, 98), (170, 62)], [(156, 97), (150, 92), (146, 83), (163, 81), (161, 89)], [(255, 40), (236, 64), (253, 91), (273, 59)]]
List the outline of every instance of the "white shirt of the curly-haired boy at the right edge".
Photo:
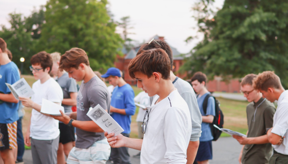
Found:
[(278, 136), (285, 136), (282, 144), (274, 145), (274, 150), (278, 153), (288, 155), (288, 90), (284, 91), (277, 102), (278, 106), (273, 117), (273, 129), (271, 133)]

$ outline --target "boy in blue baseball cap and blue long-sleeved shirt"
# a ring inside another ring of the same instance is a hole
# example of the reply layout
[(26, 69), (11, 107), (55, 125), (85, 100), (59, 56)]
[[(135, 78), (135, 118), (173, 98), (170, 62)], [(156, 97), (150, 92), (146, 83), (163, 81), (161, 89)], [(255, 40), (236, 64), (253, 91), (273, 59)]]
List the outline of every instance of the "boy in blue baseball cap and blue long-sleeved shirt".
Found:
[[(109, 68), (106, 74), (101, 76), (116, 86), (111, 98), (110, 112), (112, 118), (124, 129), (121, 133), (125, 137), (130, 135), (131, 116), (135, 114), (134, 91), (121, 77), (118, 68)], [(127, 147), (111, 148), (111, 160), (114, 164), (131, 164)]]

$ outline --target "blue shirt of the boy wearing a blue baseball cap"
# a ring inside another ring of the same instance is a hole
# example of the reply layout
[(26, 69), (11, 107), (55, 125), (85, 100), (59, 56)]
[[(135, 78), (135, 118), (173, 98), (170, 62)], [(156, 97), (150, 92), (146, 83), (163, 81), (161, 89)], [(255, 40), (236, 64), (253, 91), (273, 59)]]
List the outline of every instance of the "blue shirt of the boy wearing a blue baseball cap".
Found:
[(134, 115), (136, 111), (134, 97), (135, 94), (132, 87), (129, 84), (125, 84), (121, 87), (116, 86), (111, 98), (111, 106), (118, 109), (125, 109), (126, 115), (113, 112), (111, 117), (124, 129), (123, 133), (127, 134), (131, 132), (131, 116)]

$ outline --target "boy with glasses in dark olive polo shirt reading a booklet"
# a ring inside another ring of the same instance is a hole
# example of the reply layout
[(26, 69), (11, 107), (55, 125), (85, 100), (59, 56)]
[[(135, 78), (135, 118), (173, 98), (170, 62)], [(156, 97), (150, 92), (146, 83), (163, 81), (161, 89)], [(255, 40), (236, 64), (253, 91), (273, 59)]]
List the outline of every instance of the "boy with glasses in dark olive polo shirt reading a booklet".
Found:
[(266, 129), (273, 126), (276, 109), (273, 103), (262, 97), (259, 90), (253, 88), (253, 80), (256, 78), (257, 75), (248, 74), (240, 83), (241, 92), (250, 103), (246, 107), (247, 137), (233, 136), (243, 145), (239, 164), (268, 164), (272, 155), (272, 145), (268, 142)]

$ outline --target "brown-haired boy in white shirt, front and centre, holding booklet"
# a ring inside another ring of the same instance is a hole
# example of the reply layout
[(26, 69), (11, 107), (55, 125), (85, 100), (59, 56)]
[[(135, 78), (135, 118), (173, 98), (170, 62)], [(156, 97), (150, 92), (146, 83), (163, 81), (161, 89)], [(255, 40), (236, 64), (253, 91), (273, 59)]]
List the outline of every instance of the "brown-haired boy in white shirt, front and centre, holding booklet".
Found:
[(186, 164), (192, 123), (189, 107), (170, 80), (170, 60), (163, 49), (142, 51), (128, 65), (129, 75), (148, 95), (158, 95), (147, 106), (144, 139), (107, 134), (112, 147), (141, 150), (141, 164)]

